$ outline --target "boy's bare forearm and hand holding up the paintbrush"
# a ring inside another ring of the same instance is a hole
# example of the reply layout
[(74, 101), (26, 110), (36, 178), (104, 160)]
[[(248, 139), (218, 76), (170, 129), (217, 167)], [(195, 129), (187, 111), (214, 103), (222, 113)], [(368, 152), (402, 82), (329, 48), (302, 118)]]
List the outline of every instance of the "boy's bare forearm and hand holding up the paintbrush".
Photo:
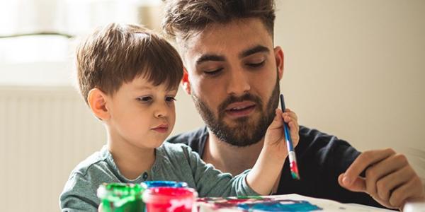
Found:
[[(293, 146), (297, 146), (300, 136), (297, 116), (289, 109), (283, 113), (276, 110), (273, 122), (268, 126), (264, 137), (264, 146), (251, 172), (246, 176), (249, 187), (261, 195), (271, 194), (273, 185), (279, 177), (288, 149), (285, 144), (283, 121), (288, 123)], [(289, 173), (288, 173), (289, 174)]]

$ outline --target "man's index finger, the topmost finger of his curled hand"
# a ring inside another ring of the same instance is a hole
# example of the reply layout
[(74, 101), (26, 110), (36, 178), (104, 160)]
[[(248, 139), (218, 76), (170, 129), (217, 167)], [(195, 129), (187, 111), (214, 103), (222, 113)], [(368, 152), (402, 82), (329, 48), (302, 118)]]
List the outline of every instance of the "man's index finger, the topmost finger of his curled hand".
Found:
[(393, 151), (391, 148), (378, 151), (365, 151), (361, 153), (346, 170), (342, 179), (344, 185), (348, 186), (353, 183), (355, 179), (357, 179), (361, 174), (361, 172), (366, 169), (366, 167), (378, 163), (379, 161), (384, 160), (385, 158), (388, 158), (390, 155), (394, 154), (395, 151)]

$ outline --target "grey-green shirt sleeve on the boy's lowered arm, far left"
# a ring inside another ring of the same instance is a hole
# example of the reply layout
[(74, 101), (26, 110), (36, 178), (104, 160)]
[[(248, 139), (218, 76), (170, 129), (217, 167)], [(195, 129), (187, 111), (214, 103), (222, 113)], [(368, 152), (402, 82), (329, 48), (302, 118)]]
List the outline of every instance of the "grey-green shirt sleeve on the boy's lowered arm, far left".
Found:
[(98, 211), (98, 202), (96, 190), (90, 181), (79, 174), (69, 178), (60, 195), (62, 212)]

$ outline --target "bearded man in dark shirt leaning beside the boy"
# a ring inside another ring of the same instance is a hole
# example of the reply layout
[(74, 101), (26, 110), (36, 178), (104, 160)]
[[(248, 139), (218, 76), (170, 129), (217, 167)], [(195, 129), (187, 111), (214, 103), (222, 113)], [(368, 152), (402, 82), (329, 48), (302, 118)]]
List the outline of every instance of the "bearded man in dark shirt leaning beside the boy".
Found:
[[(166, 1), (164, 30), (186, 67), (182, 85), (207, 127), (171, 138), (203, 160), (237, 175), (254, 165), (278, 107), (283, 51), (273, 47), (272, 0)], [(301, 180), (288, 158), (274, 194), (402, 208), (425, 199), (404, 155), (392, 149), (359, 153), (346, 141), (300, 126), (295, 148)]]

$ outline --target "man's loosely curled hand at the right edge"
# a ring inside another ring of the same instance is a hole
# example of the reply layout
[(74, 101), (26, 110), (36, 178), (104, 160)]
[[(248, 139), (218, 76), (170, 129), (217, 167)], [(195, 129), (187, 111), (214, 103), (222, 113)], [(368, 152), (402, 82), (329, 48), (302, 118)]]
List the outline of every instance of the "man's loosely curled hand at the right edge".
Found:
[[(365, 177), (360, 177), (365, 170)], [(338, 182), (352, 192), (365, 192), (387, 208), (402, 208), (407, 201), (425, 200), (421, 179), (406, 156), (392, 149), (358, 155)]]

